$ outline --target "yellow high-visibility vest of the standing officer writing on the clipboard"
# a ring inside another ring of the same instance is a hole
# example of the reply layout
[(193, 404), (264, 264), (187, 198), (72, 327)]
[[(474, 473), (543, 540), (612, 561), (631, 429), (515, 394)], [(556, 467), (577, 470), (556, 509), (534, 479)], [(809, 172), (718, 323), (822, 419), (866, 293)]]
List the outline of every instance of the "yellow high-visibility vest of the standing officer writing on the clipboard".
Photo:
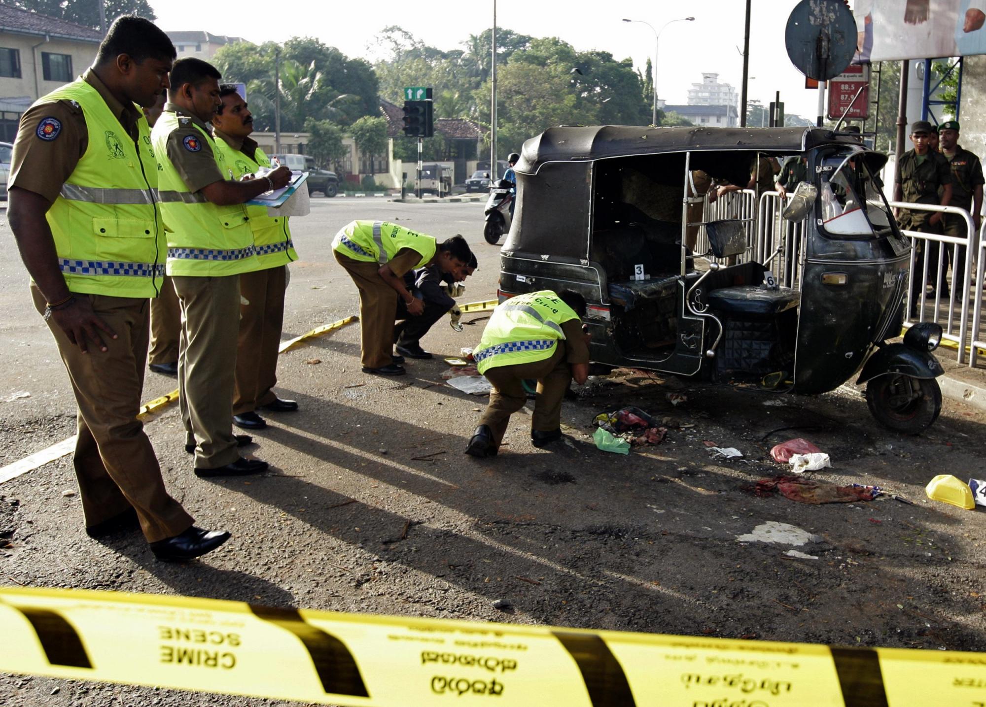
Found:
[[(196, 136), (185, 138), (186, 149), (201, 140), (212, 148), (223, 178), (232, 171), (208, 131), (194, 122)], [(168, 230), (168, 274), (196, 277), (239, 275), (259, 268), (253, 248), (253, 231), (243, 204), (217, 206), (199, 192), (191, 192), (168, 159), (168, 137), (182, 125), (177, 114), (166, 110), (154, 124), (151, 142), (158, 156), (161, 210)]]

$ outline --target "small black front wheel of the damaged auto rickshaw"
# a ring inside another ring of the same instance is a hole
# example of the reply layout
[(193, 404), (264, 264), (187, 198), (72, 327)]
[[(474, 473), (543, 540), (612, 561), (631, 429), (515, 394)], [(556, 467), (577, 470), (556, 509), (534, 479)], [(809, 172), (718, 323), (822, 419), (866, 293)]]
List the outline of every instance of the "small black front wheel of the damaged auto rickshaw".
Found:
[(866, 384), (866, 402), (883, 426), (904, 434), (920, 434), (942, 412), (942, 389), (934, 378), (890, 373)]

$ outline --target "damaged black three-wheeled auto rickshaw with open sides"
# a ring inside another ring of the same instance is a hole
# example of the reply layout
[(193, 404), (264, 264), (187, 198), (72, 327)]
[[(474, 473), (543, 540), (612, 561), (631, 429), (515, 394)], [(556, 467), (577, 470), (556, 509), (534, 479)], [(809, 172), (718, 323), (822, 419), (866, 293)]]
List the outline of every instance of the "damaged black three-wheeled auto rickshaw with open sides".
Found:
[[(758, 192), (714, 214), (697, 186), (745, 186), (786, 156), (807, 159), (808, 178), (783, 218)], [(821, 128), (551, 128), (515, 166), (500, 299), (580, 292), (592, 359), (610, 366), (808, 394), (858, 374), (874, 417), (918, 433), (942, 409), (942, 329), (887, 343), (911, 246), (880, 189), (885, 162)]]

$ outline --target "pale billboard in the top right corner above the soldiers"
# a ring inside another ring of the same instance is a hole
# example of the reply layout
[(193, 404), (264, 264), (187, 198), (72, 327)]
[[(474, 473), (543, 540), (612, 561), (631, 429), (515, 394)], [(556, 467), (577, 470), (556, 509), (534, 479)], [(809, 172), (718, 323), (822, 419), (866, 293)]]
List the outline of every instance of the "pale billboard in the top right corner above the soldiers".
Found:
[(857, 0), (854, 61), (986, 54), (986, 0)]

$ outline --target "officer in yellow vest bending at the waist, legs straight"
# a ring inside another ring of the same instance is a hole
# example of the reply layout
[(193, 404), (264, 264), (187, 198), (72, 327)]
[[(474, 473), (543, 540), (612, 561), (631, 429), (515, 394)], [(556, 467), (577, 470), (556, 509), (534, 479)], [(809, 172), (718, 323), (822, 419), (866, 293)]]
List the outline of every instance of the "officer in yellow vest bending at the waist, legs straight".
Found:
[(437, 244), (424, 233), (384, 221), (353, 221), (332, 240), (336, 262), (345, 268), (360, 292), (360, 348), (364, 373), (403, 375), (403, 356), (393, 355), (397, 297), (410, 316), (420, 316), (424, 303), (404, 285), (404, 273), (437, 265), (443, 273), (464, 267), (472, 257), (465, 238), (455, 235)]

